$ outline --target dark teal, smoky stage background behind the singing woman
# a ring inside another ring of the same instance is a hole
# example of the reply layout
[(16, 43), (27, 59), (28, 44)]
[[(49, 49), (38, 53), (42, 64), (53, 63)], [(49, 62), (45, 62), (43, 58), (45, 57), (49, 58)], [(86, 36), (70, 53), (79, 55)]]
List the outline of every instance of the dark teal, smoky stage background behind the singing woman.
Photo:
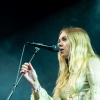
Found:
[[(56, 44), (59, 31), (69, 26), (84, 28), (100, 55), (100, 0), (0, 4), (0, 100), (6, 100), (13, 88), (24, 44)], [(29, 62), (34, 50), (26, 45), (22, 63)], [(40, 49), (31, 63), (41, 86), (52, 96), (58, 72), (57, 53)], [(30, 100), (30, 94), (31, 86), (22, 77), (11, 100)]]

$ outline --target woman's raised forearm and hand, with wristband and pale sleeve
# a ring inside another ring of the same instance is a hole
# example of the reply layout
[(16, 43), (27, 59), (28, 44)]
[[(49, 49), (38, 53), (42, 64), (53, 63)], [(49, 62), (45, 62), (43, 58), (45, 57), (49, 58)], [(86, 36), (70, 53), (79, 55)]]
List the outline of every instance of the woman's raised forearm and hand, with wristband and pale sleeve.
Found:
[(35, 69), (31, 63), (24, 63), (20, 73), (26, 78), (32, 87), (31, 100), (53, 100), (46, 90), (40, 86)]

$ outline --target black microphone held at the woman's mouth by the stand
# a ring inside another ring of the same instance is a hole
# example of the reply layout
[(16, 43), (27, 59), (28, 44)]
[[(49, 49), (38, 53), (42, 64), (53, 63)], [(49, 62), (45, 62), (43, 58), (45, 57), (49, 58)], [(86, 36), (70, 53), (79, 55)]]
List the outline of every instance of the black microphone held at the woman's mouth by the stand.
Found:
[(59, 50), (60, 50), (57, 45), (44, 45), (42, 43), (35, 43), (35, 42), (32, 42), (32, 43), (26, 42), (26, 43), (29, 45), (38, 47), (38, 48), (47, 49), (47, 50), (52, 51), (52, 52), (59, 52)]

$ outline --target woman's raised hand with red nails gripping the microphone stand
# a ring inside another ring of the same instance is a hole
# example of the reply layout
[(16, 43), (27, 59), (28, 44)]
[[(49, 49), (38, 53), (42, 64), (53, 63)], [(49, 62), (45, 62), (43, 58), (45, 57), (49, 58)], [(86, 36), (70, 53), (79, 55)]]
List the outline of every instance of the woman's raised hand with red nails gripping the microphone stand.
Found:
[(20, 73), (23, 74), (23, 76), (27, 79), (27, 81), (32, 85), (32, 87), (35, 89), (37, 86), (39, 86), (38, 78), (36, 71), (34, 70), (31, 63), (24, 63), (22, 65)]

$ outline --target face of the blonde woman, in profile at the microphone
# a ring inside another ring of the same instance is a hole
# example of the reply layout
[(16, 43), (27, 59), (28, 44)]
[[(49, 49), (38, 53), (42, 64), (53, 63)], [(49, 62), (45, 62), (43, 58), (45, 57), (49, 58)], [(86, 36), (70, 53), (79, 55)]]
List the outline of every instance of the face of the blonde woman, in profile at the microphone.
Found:
[(70, 42), (67, 38), (67, 34), (63, 31), (58, 39), (58, 47), (60, 48), (60, 54), (63, 58), (68, 59), (70, 53)]

